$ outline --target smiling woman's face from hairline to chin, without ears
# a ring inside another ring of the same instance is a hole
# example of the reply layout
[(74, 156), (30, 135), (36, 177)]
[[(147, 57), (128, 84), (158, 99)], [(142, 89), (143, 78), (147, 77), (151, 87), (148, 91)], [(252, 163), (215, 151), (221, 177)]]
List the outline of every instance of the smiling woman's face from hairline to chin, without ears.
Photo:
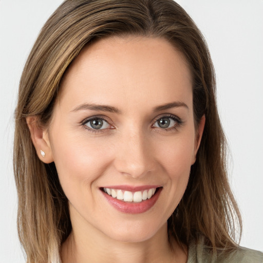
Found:
[(115, 37), (82, 50), (47, 139), (73, 231), (142, 241), (165, 225), (195, 162), (192, 104), (189, 67), (163, 39)]

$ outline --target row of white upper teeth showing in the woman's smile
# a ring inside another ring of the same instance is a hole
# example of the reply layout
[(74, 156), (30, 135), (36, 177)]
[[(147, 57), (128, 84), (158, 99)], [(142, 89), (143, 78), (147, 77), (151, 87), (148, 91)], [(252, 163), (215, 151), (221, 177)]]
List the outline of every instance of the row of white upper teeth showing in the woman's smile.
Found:
[(143, 200), (150, 199), (155, 194), (156, 188), (133, 193), (130, 191), (109, 189), (104, 187), (103, 191), (113, 198), (123, 200), (124, 202), (141, 202)]

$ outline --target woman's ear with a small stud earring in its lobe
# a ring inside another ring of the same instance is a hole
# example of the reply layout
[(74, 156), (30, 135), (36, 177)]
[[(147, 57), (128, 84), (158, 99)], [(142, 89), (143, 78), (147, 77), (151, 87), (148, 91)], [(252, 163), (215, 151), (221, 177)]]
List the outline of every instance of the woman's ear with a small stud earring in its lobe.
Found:
[(37, 156), (44, 163), (53, 162), (47, 128), (39, 124), (37, 116), (29, 116), (26, 121)]

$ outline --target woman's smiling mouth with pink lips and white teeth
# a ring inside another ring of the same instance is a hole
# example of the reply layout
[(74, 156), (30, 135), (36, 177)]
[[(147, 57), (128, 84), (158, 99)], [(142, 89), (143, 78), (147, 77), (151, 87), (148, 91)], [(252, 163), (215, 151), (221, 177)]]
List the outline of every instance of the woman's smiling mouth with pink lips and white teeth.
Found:
[(127, 188), (129, 187), (114, 186), (101, 187), (100, 190), (108, 203), (118, 211), (139, 214), (154, 206), (163, 187), (153, 185), (146, 187), (146, 189), (145, 187), (139, 187), (139, 189)]

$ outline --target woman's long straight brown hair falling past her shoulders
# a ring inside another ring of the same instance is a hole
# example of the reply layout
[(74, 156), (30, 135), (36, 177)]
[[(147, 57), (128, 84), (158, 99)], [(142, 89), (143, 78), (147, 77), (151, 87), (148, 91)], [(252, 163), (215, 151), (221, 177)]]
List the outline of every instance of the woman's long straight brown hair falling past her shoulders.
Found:
[(227, 145), (216, 107), (213, 64), (195, 23), (173, 0), (66, 0), (31, 50), (15, 111), (17, 226), (27, 262), (59, 262), (71, 223), (55, 165), (37, 157), (26, 117), (37, 116), (39, 125), (48, 125), (70, 63), (84, 46), (114, 35), (162, 37), (184, 54), (193, 76), (195, 123), (202, 115), (206, 122), (189, 184), (168, 219), (168, 233), (185, 245), (204, 236), (214, 249), (233, 249), (241, 218), (227, 178)]

